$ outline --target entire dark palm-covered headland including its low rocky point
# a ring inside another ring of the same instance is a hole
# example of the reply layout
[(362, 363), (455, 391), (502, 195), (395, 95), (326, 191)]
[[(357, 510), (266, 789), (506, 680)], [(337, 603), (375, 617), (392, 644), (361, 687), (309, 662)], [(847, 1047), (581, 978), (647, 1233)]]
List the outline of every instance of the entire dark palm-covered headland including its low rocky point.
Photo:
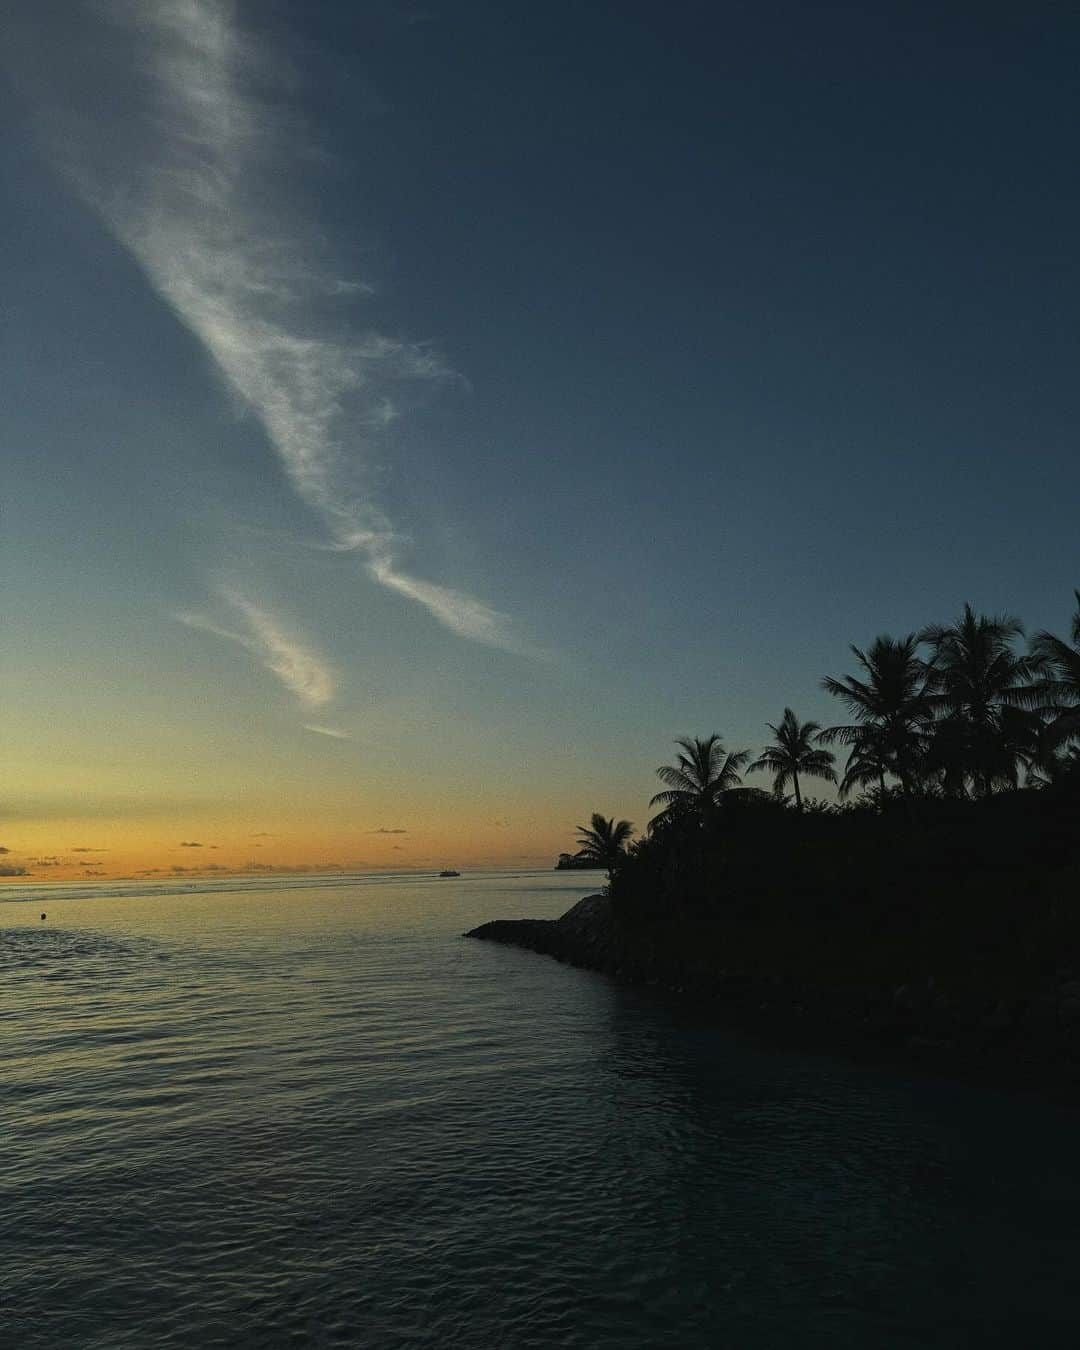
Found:
[(845, 722), (784, 709), (757, 757), (680, 737), (645, 832), (597, 813), (556, 864), (602, 868), (602, 895), (468, 936), (817, 1044), (1080, 1091), (1080, 591), (1069, 639), (1022, 637), (965, 606), (853, 647), (856, 674), (824, 680)]

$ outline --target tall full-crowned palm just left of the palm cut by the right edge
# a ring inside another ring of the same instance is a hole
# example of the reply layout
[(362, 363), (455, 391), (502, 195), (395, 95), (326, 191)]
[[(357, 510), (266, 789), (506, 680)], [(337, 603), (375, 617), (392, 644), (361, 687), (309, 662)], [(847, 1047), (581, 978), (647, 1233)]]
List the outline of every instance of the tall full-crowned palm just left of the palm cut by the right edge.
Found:
[(932, 703), (950, 744), (961, 748), (964, 776), (981, 796), (995, 784), (1017, 783), (1018, 755), (1004, 710), (1038, 702), (1029, 682), (1034, 663), (1013, 647), (1022, 636), (1018, 618), (976, 614), (971, 605), (954, 624), (919, 634), (933, 652)]

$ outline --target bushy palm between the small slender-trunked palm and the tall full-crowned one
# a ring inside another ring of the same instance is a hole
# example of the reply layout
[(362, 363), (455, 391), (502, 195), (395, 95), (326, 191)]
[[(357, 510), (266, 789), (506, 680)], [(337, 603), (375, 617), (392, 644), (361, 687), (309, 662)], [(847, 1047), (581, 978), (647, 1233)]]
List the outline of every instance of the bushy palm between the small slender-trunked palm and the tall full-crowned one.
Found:
[(861, 679), (855, 675), (833, 679), (828, 675), (822, 680), (828, 693), (846, 703), (855, 721), (828, 726), (818, 733), (818, 741), (850, 745), (852, 759), (845, 782), (850, 787), (876, 776), (883, 801), (886, 774), (898, 778), (905, 795), (910, 794), (925, 745), (930, 703), (927, 667), (918, 656), (918, 643), (915, 633), (906, 637), (882, 634), (865, 652), (852, 647), (863, 667)]

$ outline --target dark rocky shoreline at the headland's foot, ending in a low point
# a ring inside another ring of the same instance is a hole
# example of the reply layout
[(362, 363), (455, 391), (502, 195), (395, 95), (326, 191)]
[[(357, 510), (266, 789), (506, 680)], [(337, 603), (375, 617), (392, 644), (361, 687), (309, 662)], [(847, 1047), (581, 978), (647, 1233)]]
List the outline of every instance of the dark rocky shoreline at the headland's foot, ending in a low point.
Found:
[(1061, 968), (1040, 988), (805, 983), (702, 960), (678, 925), (620, 923), (589, 895), (558, 919), (495, 919), (464, 934), (524, 948), (618, 983), (705, 1003), (725, 1023), (772, 1041), (915, 1064), (1080, 1103), (1080, 977)]

